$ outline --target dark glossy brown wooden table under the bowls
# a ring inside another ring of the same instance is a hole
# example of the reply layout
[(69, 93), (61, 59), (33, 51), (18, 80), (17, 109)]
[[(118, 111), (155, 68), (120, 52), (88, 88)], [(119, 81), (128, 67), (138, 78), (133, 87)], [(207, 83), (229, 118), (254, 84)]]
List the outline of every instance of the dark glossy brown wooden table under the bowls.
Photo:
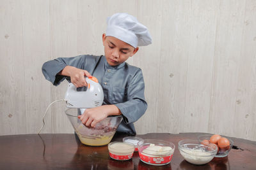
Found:
[[(181, 139), (196, 139), (201, 133), (150, 133), (143, 139), (164, 139), (175, 144), (170, 164), (150, 166), (140, 161), (138, 152), (131, 160), (109, 157), (108, 146), (83, 145), (75, 134), (26, 134), (0, 136), (0, 169), (256, 169), (256, 142), (231, 138), (238, 149), (228, 157), (214, 158), (208, 164), (195, 166), (182, 158), (178, 149)], [(122, 141), (117, 135), (112, 141)]]

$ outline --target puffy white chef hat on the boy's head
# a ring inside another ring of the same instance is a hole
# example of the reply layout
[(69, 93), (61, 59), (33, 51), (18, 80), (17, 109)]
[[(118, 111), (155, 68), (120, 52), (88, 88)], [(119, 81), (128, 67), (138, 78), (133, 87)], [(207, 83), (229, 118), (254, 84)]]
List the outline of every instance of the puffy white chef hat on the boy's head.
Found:
[(107, 18), (106, 36), (113, 36), (136, 48), (152, 43), (152, 38), (145, 25), (127, 13), (115, 13)]

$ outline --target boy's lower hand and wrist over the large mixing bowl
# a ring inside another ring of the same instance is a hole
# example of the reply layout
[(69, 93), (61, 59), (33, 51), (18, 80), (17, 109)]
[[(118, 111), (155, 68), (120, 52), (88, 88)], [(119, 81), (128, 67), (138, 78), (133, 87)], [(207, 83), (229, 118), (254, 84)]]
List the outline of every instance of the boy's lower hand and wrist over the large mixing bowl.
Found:
[(83, 115), (79, 115), (78, 118), (87, 127), (95, 127), (98, 122), (109, 115), (121, 115), (121, 111), (113, 104), (103, 105), (96, 108), (86, 109)]

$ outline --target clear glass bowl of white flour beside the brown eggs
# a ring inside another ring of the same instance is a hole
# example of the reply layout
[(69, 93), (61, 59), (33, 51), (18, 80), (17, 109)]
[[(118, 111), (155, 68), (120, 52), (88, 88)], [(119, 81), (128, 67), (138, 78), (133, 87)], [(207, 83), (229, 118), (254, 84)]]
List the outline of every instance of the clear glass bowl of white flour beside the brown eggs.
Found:
[(207, 164), (214, 158), (218, 147), (214, 144), (205, 146), (197, 140), (184, 139), (179, 141), (179, 151), (189, 163), (202, 165)]

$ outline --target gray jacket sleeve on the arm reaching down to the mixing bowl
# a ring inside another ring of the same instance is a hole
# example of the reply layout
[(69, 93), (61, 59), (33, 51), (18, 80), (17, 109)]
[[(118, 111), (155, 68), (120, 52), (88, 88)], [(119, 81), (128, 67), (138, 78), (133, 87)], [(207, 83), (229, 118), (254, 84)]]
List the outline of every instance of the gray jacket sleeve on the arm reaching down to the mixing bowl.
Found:
[(122, 112), (125, 124), (136, 122), (147, 110), (144, 96), (145, 83), (141, 69), (132, 78), (127, 91), (127, 101), (115, 104)]

